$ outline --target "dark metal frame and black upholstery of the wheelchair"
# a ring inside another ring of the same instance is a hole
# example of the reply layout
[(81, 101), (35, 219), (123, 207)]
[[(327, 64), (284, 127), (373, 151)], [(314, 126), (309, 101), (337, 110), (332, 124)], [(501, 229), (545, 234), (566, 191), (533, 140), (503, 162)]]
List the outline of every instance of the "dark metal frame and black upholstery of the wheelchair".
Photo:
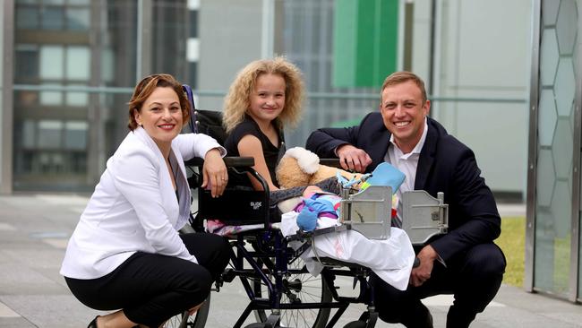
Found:
[[(193, 108), (189, 122), (192, 132), (209, 134), (215, 137), (219, 143), (223, 144), (226, 134), (224, 134), (219, 123), (218, 125), (212, 124), (212, 120), (216, 121), (219, 113), (194, 109), (192, 90), (187, 85), (184, 85), (184, 91), (190, 99)], [(199, 187), (201, 186), (201, 181), (197, 174), (189, 177), (188, 182), (191, 188), (198, 189), (199, 211), (196, 217), (191, 220), (194, 229), (199, 231), (203, 229), (203, 220), (208, 219), (224, 220), (234, 225), (242, 223), (261, 223), (264, 225), (262, 229), (245, 231), (237, 234), (235, 239), (231, 239), (230, 243), (233, 246), (233, 253), (231, 255), (232, 268), (227, 268), (216, 283), (217, 290), (219, 290), (225, 282), (230, 282), (238, 278), (242, 282), (249, 298), (249, 304), (244, 308), (243, 313), (236, 321), (234, 327), (242, 327), (244, 321), (251, 315), (252, 311), (255, 311), (255, 315), (260, 322), (249, 324), (246, 326), (247, 328), (279, 327), (286, 311), (292, 310), (316, 310), (317, 315), (313, 318), (313, 323), (306, 324), (309, 324), (310, 327), (317, 328), (333, 327), (338, 323), (339, 318), (345, 313), (351, 303), (364, 303), (367, 306), (367, 311), (364, 311), (364, 314), (358, 319), (358, 322), (361, 324), (348, 325), (350, 327), (373, 327), (378, 319), (378, 313), (375, 311), (373, 299), (371, 298), (373, 295), (372, 287), (367, 281), (371, 270), (355, 263), (322, 258), (321, 262), (324, 264), (324, 270), (321, 272), (321, 278), (319, 279), (321, 281), (321, 296), (316, 301), (305, 302), (300, 296), (301, 289), (303, 288), (302, 281), (293, 278), (295, 275), (311, 275), (306, 271), (304, 265), (301, 265), (302, 260), (299, 258), (299, 255), (301, 255), (306, 247), (294, 250), (287, 243), (292, 240), (309, 241), (313, 237), (313, 234), (300, 233), (294, 237), (283, 237), (278, 229), (273, 229), (272, 224), (280, 221), (280, 212), (278, 212), (276, 207), (270, 207), (269, 186), (264, 178), (252, 168), (254, 160), (252, 158), (225, 158), (225, 163), (229, 169), (229, 175), (234, 171), (235, 174), (250, 173), (253, 177), (256, 177), (261, 182), (264, 192), (226, 191), (223, 197), (226, 196), (227, 198), (212, 198), (209, 191)], [(203, 161), (201, 160), (193, 160), (186, 163), (186, 166), (198, 168), (199, 172), (202, 165)], [(230, 196), (230, 193), (238, 194)], [(389, 195), (389, 203), (391, 203), (391, 192), (389, 192)], [(428, 200), (434, 200), (429, 194), (425, 196), (430, 198)], [(386, 220), (383, 220), (383, 222), (373, 222), (373, 226), (368, 226), (370, 222), (352, 220), (351, 214), (349, 214), (353, 212), (351, 211), (351, 207), (357, 207), (359, 205), (358, 202), (361, 203), (363, 200), (360, 199), (358, 201), (357, 198), (354, 199), (349, 193), (342, 194), (342, 197), (344, 199), (342, 201), (342, 213), (346, 213), (347, 215), (345, 217), (349, 218), (347, 219), (349, 222), (345, 226), (347, 229), (358, 230), (364, 233), (364, 236), (366, 232), (377, 231), (378, 225), (382, 227), (382, 231), (386, 231), (386, 229), (389, 231), (389, 221), (386, 223)], [(419, 197), (416, 197), (415, 202), (420, 202), (419, 199)], [(225, 201), (229, 203), (228, 206), (224, 206)], [(236, 208), (236, 206), (240, 208)], [(442, 197), (437, 201), (436, 207), (433, 205), (433, 202), (428, 202), (427, 206), (429, 207), (424, 206), (424, 210), (429, 211), (432, 218), (434, 218), (434, 212), (437, 211), (439, 220), (429, 221), (428, 224), (430, 226), (423, 226), (423, 231), (428, 230), (432, 235), (446, 232), (448, 212), (447, 205), (442, 202)], [(227, 208), (236, 208), (235, 218), (233, 218), (232, 213), (223, 211)], [(419, 212), (416, 211), (415, 214), (419, 214)], [(424, 212), (420, 214), (424, 215)], [(384, 218), (386, 217), (384, 216)], [(434, 228), (435, 224), (437, 228)], [(370, 227), (373, 228), (369, 229)], [(414, 227), (408, 228), (412, 229)], [(317, 232), (316, 230), (316, 234), (323, 232)], [(384, 233), (384, 235), (377, 237), (382, 238), (387, 236)], [(424, 241), (426, 240), (422, 240), (421, 242)], [(248, 249), (248, 246), (251, 246), (251, 249)], [(245, 267), (245, 263), (250, 268)], [(293, 267), (298, 263), (300, 267)], [(358, 295), (355, 297), (339, 295), (338, 289), (334, 285), (334, 281), (338, 276), (353, 278), (353, 288), (359, 282)], [(263, 295), (262, 289), (265, 289), (266, 295)], [(331, 309), (333, 308), (337, 310), (330, 318)], [(270, 315), (267, 315), (267, 310), (270, 310)], [(208, 315), (208, 312), (199, 315)], [(199, 326), (187, 324), (187, 320), (188, 317), (184, 314), (180, 327)], [(284, 324), (293, 323), (285, 322)]]

